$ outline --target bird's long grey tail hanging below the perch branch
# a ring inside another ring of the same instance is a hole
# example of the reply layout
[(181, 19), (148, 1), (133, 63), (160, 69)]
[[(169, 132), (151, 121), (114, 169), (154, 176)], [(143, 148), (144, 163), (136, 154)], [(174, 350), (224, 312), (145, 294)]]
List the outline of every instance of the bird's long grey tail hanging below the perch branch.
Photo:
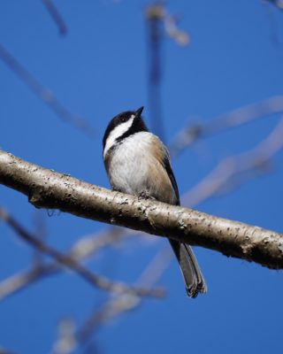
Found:
[(179, 241), (169, 240), (169, 242), (178, 259), (186, 284), (187, 296), (196, 297), (198, 293), (206, 293), (207, 286), (203, 278), (203, 273), (198, 266), (192, 248)]

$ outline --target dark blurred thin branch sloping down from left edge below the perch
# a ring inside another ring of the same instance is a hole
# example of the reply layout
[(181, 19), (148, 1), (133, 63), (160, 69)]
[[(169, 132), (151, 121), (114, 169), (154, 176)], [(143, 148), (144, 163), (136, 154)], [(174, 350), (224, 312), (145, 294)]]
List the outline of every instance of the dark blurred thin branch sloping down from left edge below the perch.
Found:
[(96, 275), (90, 272), (84, 266), (81, 266), (76, 259), (65, 255), (58, 250), (50, 247), (46, 243), (42, 242), (36, 238), (36, 236), (29, 233), (24, 227), (22, 227), (19, 222), (14, 219), (10, 214), (5, 212), (3, 209), (0, 210), (0, 218), (3, 219), (9, 227), (11, 227), (19, 237), (21, 237), (25, 242), (29, 243), (36, 250), (40, 250), (42, 253), (55, 259), (57, 263), (67, 268), (72, 269), (75, 273), (78, 273), (83, 279), (88, 281), (91, 285), (96, 286), (99, 289), (106, 291), (122, 294), (125, 292), (134, 293), (138, 296), (163, 296), (163, 291), (161, 289), (143, 289), (135, 288), (123, 284), (121, 282), (110, 281), (103, 276)]

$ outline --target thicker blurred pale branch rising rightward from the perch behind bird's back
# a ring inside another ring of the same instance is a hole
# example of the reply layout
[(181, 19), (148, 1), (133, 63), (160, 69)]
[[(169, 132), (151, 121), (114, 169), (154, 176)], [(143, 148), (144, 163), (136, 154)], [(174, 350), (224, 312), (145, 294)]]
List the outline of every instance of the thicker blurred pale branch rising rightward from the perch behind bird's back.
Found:
[(183, 204), (195, 206), (219, 193), (231, 191), (239, 183), (269, 171), (272, 158), (283, 149), (283, 119), (255, 149), (225, 158), (202, 181), (182, 197)]

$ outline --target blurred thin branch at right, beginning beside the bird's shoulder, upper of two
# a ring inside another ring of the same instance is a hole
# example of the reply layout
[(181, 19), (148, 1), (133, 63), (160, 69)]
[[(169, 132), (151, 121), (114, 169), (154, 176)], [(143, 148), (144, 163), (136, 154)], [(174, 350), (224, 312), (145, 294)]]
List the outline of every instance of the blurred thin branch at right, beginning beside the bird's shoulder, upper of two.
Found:
[(218, 118), (210, 119), (206, 123), (185, 127), (171, 143), (169, 150), (172, 157), (175, 158), (201, 138), (216, 135), (233, 127), (240, 127), (256, 119), (263, 119), (282, 112), (283, 96), (272, 96), (256, 104), (249, 104)]

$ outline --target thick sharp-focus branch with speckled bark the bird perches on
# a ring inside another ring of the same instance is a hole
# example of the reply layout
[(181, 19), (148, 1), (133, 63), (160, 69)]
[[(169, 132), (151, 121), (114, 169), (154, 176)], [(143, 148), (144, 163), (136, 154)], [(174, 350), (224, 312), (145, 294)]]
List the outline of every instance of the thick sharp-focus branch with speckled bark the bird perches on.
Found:
[(283, 235), (203, 212), (114, 192), (0, 150), (0, 183), (38, 208), (167, 236), (228, 257), (283, 269)]

